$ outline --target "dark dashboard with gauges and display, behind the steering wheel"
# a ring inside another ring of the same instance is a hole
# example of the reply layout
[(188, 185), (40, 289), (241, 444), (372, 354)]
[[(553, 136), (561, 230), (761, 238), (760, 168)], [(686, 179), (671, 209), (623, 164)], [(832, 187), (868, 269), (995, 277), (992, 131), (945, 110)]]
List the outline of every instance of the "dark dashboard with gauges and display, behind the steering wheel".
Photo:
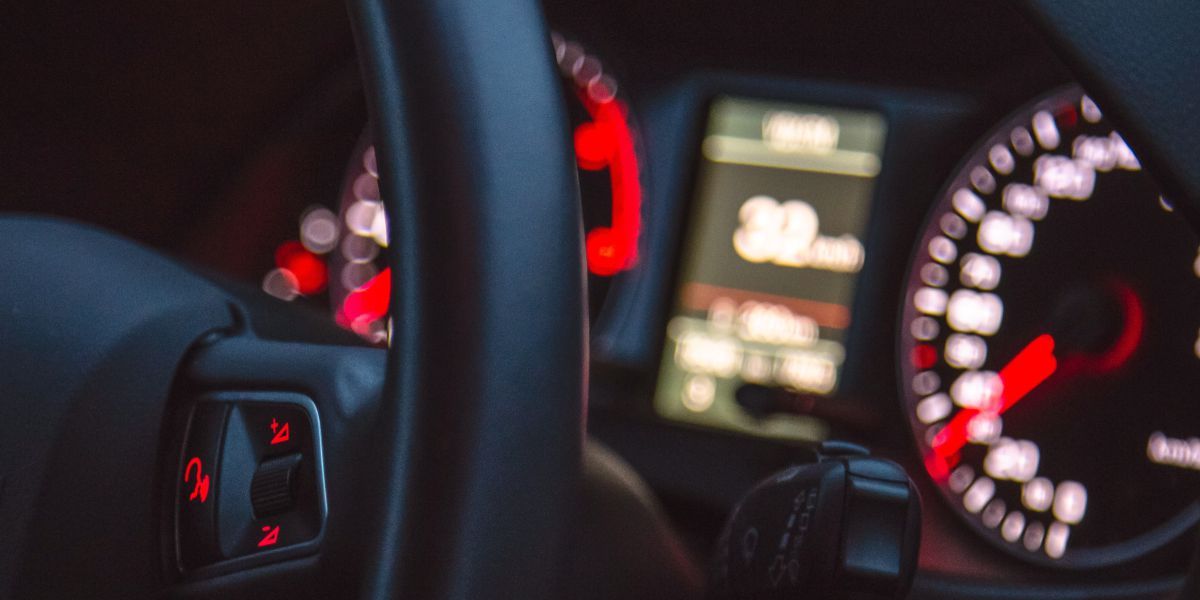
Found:
[[(917, 481), (914, 598), (1180, 578), (1200, 240), (1015, 7), (545, 7), (587, 235), (589, 431), (698, 559), (756, 481), (844, 439)], [(64, 76), (6, 98), (28, 118), (0, 150), (28, 174), (0, 184), (6, 209), (103, 224), (386, 344), (386, 215), (338, 2), (28, 10), (79, 35), (34, 47)], [(89, 54), (118, 34), (142, 43)], [(180, 36), (203, 52), (144, 62)], [(50, 124), (46, 98), (110, 116)]]

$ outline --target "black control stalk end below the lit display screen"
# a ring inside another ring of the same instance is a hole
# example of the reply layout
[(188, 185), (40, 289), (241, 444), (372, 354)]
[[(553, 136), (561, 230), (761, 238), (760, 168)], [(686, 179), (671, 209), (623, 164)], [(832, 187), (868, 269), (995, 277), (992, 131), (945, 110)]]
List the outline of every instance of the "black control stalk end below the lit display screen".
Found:
[(762, 481), (718, 542), (712, 600), (876, 600), (908, 594), (920, 499), (898, 464), (827, 442)]

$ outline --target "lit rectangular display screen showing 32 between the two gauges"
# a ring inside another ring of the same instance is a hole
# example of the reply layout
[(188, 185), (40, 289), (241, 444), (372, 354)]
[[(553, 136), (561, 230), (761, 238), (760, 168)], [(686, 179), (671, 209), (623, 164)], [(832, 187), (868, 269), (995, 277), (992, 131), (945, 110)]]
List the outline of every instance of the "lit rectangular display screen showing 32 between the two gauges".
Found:
[(824, 436), (812, 418), (751, 416), (738, 391), (838, 390), (884, 134), (871, 112), (713, 102), (655, 392), (660, 415)]

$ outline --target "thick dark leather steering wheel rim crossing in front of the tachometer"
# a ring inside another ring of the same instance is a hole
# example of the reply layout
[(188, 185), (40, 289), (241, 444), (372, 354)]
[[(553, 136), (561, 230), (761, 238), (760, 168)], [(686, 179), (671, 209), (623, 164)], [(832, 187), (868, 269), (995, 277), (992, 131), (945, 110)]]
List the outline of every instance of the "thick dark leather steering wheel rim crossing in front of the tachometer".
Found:
[(349, 4), (396, 265), (362, 595), (557, 596), (586, 307), (539, 5)]

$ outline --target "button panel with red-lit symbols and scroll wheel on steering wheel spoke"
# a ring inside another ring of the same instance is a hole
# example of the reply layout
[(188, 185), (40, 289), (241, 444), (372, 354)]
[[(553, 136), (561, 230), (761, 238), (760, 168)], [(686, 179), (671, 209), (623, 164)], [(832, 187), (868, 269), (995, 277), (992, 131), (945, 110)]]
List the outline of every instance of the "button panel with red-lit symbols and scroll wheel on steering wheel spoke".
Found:
[[(312, 401), (294, 394), (212, 395), (196, 403), (191, 422), (176, 512), (182, 568), (314, 546), (326, 506)], [(202, 485), (192, 458), (205, 469)]]

